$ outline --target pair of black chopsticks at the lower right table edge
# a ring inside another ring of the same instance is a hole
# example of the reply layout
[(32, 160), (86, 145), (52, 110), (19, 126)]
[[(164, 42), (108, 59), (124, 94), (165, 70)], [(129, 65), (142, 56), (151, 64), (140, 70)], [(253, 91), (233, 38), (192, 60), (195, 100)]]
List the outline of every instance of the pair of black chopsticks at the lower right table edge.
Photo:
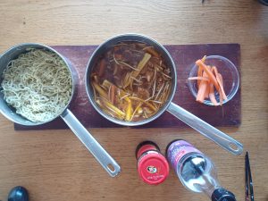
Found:
[(249, 193), (250, 193), (250, 200), (254, 201), (253, 182), (252, 182), (252, 176), (251, 176), (251, 169), (250, 169), (248, 153), (246, 153), (246, 156), (245, 156), (245, 167), (246, 167), (246, 169), (245, 169), (246, 201), (248, 201), (248, 188), (249, 188)]

